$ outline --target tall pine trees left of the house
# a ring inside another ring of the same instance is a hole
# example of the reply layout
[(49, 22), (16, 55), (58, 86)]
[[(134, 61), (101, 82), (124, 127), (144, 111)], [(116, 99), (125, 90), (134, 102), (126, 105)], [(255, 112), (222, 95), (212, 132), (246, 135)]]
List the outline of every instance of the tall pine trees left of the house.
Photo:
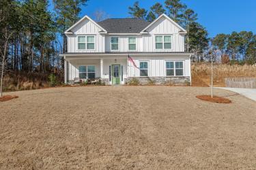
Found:
[(64, 31), (79, 20), (86, 2), (54, 0), (54, 10), (49, 10), (46, 0), (1, 0), (1, 63), (8, 71), (61, 73), (59, 54), (67, 51)]

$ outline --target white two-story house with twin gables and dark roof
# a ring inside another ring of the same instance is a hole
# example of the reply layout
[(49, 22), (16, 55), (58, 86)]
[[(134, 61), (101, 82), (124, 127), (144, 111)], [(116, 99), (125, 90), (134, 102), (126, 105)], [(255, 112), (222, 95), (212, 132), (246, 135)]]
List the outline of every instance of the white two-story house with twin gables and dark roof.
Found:
[(191, 82), (186, 30), (162, 14), (154, 22), (113, 18), (94, 22), (84, 16), (66, 32), (65, 82), (101, 78), (106, 84)]

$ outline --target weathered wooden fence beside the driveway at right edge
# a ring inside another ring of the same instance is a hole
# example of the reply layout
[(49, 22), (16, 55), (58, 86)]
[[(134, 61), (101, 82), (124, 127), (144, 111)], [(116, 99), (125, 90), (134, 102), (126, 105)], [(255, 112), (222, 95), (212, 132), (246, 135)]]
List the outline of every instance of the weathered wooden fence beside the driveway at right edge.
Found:
[(225, 78), (225, 84), (231, 88), (256, 88), (256, 78)]

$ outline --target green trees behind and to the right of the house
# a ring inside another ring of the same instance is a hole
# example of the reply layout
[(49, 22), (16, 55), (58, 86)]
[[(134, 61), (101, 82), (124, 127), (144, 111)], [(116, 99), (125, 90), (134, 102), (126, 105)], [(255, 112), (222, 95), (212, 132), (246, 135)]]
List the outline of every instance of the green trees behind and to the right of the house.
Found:
[[(188, 8), (180, 0), (166, 0), (163, 4), (155, 3), (150, 9), (139, 6), (136, 1), (128, 7), (129, 14), (133, 18), (141, 18), (152, 22), (161, 14), (167, 14), (172, 20), (180, 24), (188, 34), (186, 35), (186, 51), (193, 52), (193, 61), (204, 61), (216, 56), (229, 56), (231, 61), (243, 63), (256, 63), (256, 35), (251, 31), (218, 34), (216, 37), (208, 37), (208, 31), (197, 22), (197, 13)], [(214, 55), (213, 55), (214, 54)]]

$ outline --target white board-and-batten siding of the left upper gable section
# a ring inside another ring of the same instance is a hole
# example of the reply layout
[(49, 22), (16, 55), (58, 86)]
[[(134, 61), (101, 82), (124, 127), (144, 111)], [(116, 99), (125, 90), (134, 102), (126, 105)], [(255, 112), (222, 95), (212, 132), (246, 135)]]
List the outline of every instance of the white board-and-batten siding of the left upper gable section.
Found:
[[(73, 35), (66, 35), (68, 37), (68, 52), (105, 52), (105, 35), (100, 34), (100, 31), (101, 29), (90, 20), (83, 20), (72, 29)], [(94, 35), (95, 50), (78, 50), (79, 35)]]

